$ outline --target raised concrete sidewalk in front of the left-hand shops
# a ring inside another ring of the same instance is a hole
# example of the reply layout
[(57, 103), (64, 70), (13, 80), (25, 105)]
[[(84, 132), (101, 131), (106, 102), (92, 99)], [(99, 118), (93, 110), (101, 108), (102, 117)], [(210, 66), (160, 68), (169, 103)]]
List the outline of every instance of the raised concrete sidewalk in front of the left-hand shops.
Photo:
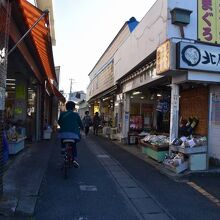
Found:
[(9, 161), (3, 176), (3, 196), (0, 214), (32, 216), (56, 140), (26, 144), (25, 149)]

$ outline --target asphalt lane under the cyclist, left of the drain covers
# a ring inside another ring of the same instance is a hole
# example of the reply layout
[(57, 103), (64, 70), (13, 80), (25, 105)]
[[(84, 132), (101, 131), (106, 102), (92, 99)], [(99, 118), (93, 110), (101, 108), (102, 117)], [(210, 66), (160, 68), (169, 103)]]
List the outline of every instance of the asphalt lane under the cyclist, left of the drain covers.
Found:
[(36, 220), (136, 220), (113, 178), (82, 141), (79, 169), (64, 179), (58, 168), (59, 147), (49, 161), (35, 209)]

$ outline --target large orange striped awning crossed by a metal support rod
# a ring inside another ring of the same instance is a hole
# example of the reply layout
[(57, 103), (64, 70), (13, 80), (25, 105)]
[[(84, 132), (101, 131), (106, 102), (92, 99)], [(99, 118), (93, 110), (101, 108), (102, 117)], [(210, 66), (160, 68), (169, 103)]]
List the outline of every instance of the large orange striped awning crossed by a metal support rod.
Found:
[[(18, 4), (21, 8), (26, 25), (29, 28), (32, 27), (43, 12), (26, 0), (18, 0)], [(30, 35), (32, 36), (35, 48), (48, 80), (57, 82), (48, 15), (42, 18), (41, 21), (31, 30)]]

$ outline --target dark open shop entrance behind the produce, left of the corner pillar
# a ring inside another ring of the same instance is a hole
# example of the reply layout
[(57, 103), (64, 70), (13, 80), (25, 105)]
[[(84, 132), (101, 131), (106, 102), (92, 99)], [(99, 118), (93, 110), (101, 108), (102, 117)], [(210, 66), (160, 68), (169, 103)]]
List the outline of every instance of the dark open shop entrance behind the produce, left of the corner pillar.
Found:
[(170, 88), (142, 89), (130, 94), (130, 131), (169, 133)]

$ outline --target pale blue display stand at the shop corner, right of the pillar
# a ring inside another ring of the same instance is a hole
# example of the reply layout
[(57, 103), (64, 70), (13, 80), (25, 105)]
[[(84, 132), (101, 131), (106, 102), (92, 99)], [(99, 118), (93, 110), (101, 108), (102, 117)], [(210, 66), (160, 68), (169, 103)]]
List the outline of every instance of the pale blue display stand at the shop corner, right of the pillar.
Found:
[(170, 146), (170, 151), (180, 152), (189, 157), (189, 169), (191, 171), (207, 169), (207, 146), (181, 147)]

